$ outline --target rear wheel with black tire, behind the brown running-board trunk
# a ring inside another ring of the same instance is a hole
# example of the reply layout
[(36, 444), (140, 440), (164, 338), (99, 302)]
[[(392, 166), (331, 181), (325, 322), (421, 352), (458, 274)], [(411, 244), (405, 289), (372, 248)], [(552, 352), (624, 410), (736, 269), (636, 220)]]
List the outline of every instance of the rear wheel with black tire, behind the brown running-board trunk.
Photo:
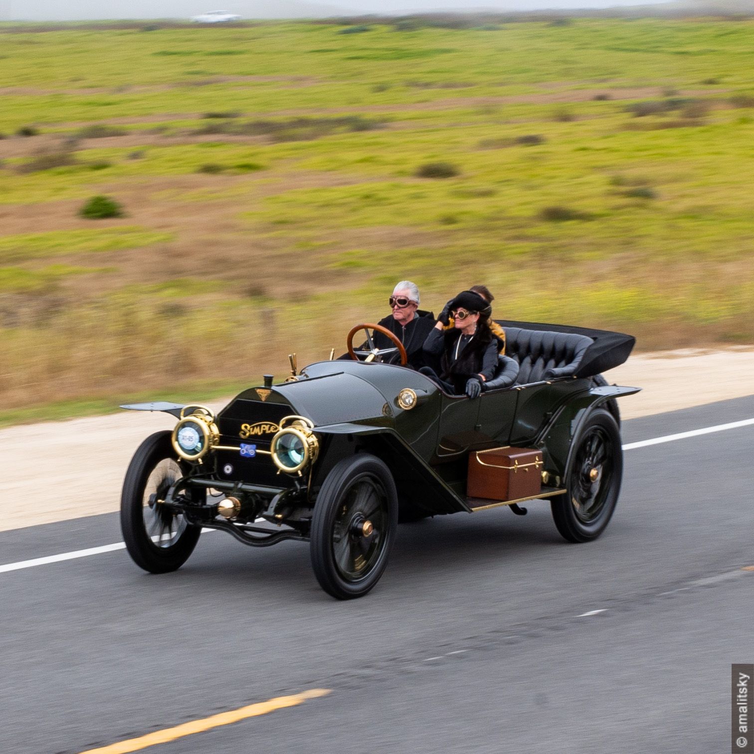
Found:
[(595, 409), (573, 442), (567, 492), (550, 498), (555, 526), (563, 538), (588, 542), (605, 531), (618, 503), (622, 477), (618, 424), (608, 410)]

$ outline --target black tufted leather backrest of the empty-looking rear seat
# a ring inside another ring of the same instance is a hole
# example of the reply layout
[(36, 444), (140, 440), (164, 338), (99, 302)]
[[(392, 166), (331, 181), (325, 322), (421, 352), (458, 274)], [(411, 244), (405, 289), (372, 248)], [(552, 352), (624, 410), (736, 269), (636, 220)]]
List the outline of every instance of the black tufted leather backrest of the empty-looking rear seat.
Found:
[(572, 375), (593, 340), (550, 330), (505, 328), (505, 354), (519, 364), (517, 385)]

